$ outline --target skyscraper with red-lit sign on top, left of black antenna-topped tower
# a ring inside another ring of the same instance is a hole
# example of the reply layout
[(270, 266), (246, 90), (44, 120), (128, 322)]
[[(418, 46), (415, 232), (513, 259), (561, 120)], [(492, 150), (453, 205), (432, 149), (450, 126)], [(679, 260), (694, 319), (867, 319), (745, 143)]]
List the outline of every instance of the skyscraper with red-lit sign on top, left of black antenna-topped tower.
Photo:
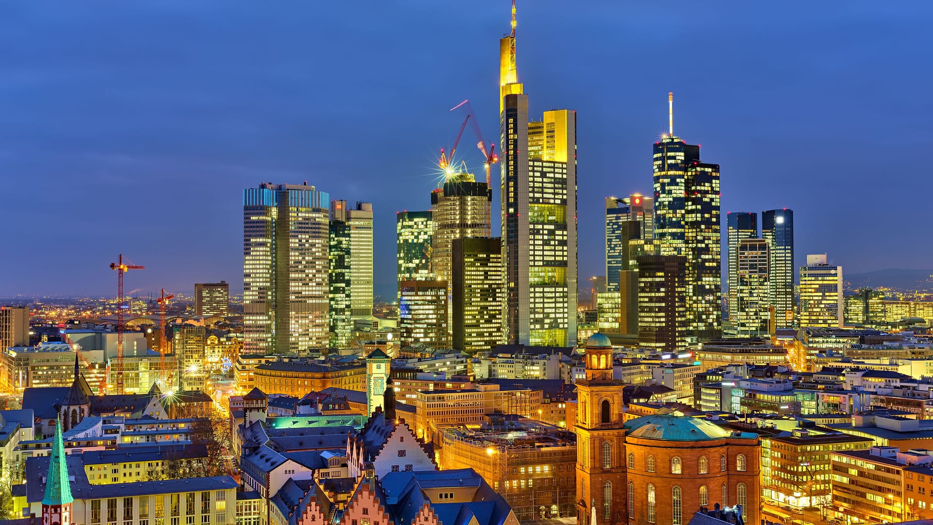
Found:
[(632, 239), (652, 239), (653, 199), (634, 193), (618, 199), (606, 198), (606, 287), (619, 290), (619, 273), (632, 270), (629, 245)]

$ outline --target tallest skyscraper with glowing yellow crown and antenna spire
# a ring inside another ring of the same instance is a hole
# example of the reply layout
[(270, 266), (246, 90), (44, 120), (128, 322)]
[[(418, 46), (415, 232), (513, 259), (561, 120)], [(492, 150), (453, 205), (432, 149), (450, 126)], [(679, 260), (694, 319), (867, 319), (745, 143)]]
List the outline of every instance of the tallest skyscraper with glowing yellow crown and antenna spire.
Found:
[(577, 113), (528, 121), (512, 33), (500, 40), (506, 342), (577, 344)]

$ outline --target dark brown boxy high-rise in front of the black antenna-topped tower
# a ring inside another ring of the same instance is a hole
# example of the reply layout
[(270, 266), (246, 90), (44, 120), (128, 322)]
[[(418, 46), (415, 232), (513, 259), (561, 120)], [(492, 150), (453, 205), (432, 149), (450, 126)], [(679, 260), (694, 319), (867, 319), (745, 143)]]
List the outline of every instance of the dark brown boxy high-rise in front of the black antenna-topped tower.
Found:
[(637, 262), (638, 345), (662, 352), (687, 348), (687, 258), (642, 255)]

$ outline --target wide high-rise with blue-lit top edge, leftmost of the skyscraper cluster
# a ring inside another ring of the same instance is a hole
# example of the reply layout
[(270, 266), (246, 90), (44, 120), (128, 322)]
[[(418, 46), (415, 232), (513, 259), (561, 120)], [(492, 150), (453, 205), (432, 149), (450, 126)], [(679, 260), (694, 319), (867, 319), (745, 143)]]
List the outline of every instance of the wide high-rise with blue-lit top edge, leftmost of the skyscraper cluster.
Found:
[(306, 184), (244, 190), (244, 354), (327, 347), (329, 201)]

